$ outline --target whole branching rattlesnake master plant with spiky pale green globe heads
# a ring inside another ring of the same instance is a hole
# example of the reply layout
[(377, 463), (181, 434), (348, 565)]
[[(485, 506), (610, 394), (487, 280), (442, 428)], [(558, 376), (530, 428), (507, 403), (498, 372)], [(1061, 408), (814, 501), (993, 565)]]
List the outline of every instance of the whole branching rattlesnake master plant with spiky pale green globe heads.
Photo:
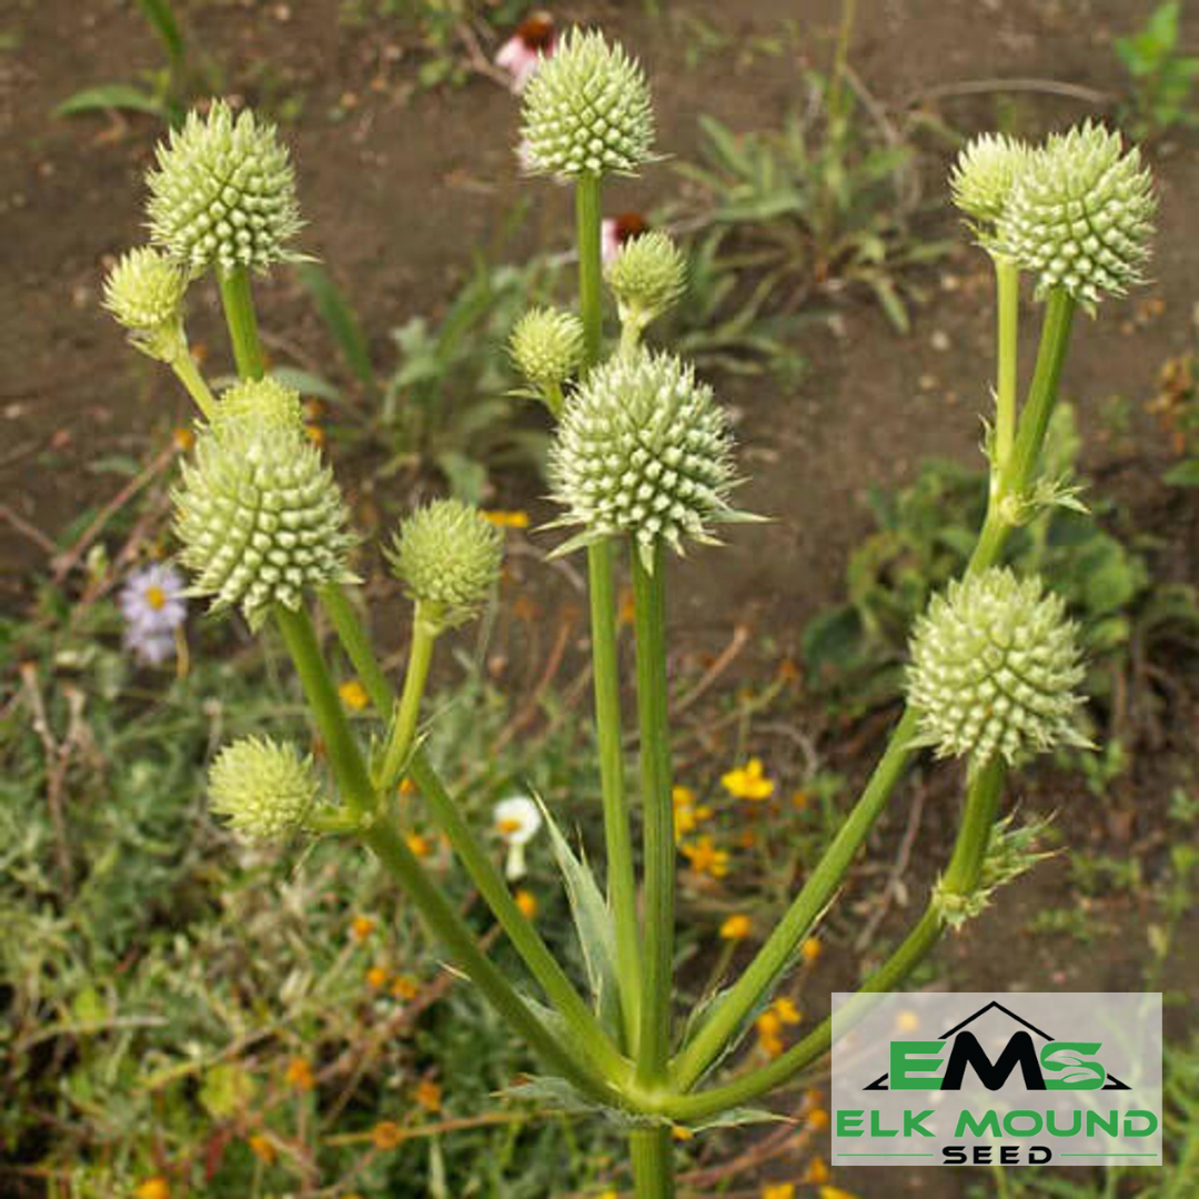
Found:
[[(255, 627), (272, 615), (341, 801), (314, 811), (320, 796), (311, 763), (290, 746), (252, 737), (213, 765), (213, 811), (259, 839), (307, 827), (354, 838), (373, 852), (478, 994), (554, 1072), (555, 1093), (568, 1090), (615, 1114), (622, 1127), (634, 1126), (637, 1194), (667, 1199), (671, 1123), (694, 1125), (749, 1107), (827, 1050), (826, 1022), (769, 1065), (722, 1084), (704, 1081), (833, 902), (917, 745), (969, 760), (962, 821), (926, 911), (867, 986), (902, 986), (946, 928), (975, 915), (989, 888), (1035, 857), (1031, 835), (1017, 839), (1002, 826), (988, 854), (1006, 771), (1054, 745), (1081, 743), (1074, 718), (1083, 669), (1062, 602), (1036, 579), (1020, 580), (996, 564), (1012, 511), (1043, 490), (1037, 462), (1074, 307), (1139, 279), (1152, 198), (1135, 152), (1125, 155), (1114, 134), (1092, 125), (1031, 149), (984, 138), (959, 159), (952, 191), (992, 252), (1000, 309), (989, 507), (970, 572), (916, 623), (908, 711), (837, 837), (743, 972), (709, 996), (701, 1017), (680, 1036), (671, 993), (676, 882), (664, 639), (669, 570), (662, 548), (681, 550), (687, 538), (710, 542), (716, 524), (747, 518), (730, 505), (733, 435), (711, 387), (674, 355), (640, 345), (644, 324), (681, 287), (681, 259), (667, 239), (639, 239), (609, 269), (623, 327), (615, 353), (604, 357), (602, 176), (634, 170), (650, 157), (653, 121), (640, 70), (598, 34), (568, 34), (525, 91), (524, 132), (535, 169), (573, 180), (579, 233), (578, 315), (531, 313), (516, 330), (511, 353), (558, 420), (549, 459), (553, 498), (562, 507), (556, 524), (579, 530), (558, 552), (588, 547), (605, 887), (571, 855), (553, 814), (543, 814), (572, 896), (586, 900), (578, 932), (589, 965), (604, 963), (589, 972), (590, 1001), (520, 911), (494, 846), (480, 842), (417, 731), (439, 634), (477, 615), (495, 586), (498, 530), (456, 500), (430, 504), (402, 524), (387, 556), (415, 611), (397, 695), (344, 591), (351, 582), (348, 513), (305, 436), (300, 397), (259, 378), (265, 362), (246, 272), (290, 257), (287, 243), (300, 224), (291, 168), (273, 129), (251, 114), (235, 119), (219, 103), (206, 116), (188, 119), (159, 151), (151, 177), (153, 237), (167, 257), (132, 255), (109, 281), (106, 302), (135, 338), (156, 344), (156, 331), (170, 329), (182, 342), (181, 281), (217, 269), (243, 378), (217, 399), (186, 353), (170, 360), (207, 418), (174, 493), (181, 556), (193, 573), (193, 594), (211, 597), (215, 608), (240, 605)], [(1022, 270), (1037, 276), (1048, 302), (1037, 366), (1018, 405)], [(139, 348), (145, 347), (139, 342)], [(570, 378), (579, 381), (564, 394)], [(634, 597), (640, 854), (633, 851), (625, 795), (614, 576), (621, 560), (628, 562)], [(338, 699), (309, 602), (327, 615), (380, 719), (369, 753)], [(552, 1019), (542, 1019), (487, 957), (408, 848), (394, 805), (405, 777), (540, 984)]]

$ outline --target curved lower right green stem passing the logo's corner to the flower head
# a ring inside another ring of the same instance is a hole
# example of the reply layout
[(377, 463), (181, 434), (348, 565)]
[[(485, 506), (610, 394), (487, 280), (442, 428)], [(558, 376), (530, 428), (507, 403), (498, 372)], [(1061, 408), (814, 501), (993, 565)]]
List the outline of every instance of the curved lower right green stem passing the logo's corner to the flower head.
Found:
[[(970, 781), (965, 812), (958, 830), (953, 855), (941, 880), (941, 890), (959, 896), (971, 894), (982, 875), (987, 844), (995, 824), (999, 800), (1007, 769), (1002, 759), (994, 759), (978, 770)], [(929, 903), (916, 927), (908, 934), (891, 957), (875, 970), (860, 993), (894, 990), (928, 956), (941, 939), (945, 922), (935, 905)], [(838, 1016), (838, 1032), (848, 1026)], [(685, 1095), (663, 1104), (663, 1114), (675, 1120), (704, 1120), (751, 1102), (781, 1086), (812, 1062), (823, 1058), (832, 1044), (832, 1018), (819, 1024), (802, 1041), (760, 1070), (697, 1095)]]

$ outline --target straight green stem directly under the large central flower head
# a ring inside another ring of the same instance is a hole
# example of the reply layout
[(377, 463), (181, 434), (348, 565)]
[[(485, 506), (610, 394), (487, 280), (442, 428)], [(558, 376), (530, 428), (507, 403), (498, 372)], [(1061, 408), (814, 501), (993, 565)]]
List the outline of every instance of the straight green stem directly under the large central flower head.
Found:
[(665, 561), (661, 541), (653, 546), (649, 564), (643, 562), (639, 549), (633, 546), (632, 568), (645, 837), (645, 976), (637, 1076), (643, 1086), (652, 1089), (664, 1081), (670, 1054), (675, 842), (667, 713)]

